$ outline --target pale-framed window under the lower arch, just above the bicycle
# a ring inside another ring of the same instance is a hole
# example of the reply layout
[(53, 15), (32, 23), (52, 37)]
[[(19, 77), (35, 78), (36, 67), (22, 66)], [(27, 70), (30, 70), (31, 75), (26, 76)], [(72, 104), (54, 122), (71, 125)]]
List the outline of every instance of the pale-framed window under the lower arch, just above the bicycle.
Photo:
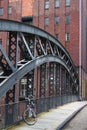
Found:
[(26, 96), (27, 79), (21, 79), (20, 96)]

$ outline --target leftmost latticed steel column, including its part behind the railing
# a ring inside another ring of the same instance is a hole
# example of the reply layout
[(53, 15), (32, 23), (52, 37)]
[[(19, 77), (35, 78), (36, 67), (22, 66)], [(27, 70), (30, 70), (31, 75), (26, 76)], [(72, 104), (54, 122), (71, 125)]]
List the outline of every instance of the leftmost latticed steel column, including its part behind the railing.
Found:
[[(9, 32), (9, 59), (13, 66), (17, 69), (17, 58), (18, 58), (18, 40), (17, 32)], [(15, 85), (6, 93), (6, 104), (15, 102)], [(6, 126), (9, 123), (13, 123), (15, 114), (15, 108), (13, 105), (6, 106)]]

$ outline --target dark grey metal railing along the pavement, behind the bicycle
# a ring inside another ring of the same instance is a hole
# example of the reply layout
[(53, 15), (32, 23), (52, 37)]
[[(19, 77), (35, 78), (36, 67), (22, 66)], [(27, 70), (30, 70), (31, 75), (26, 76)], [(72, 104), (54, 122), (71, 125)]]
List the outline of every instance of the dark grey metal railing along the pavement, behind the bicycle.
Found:
[[(55, 108), (65, 103), (77, 101), (78, 99), (78, 95), (52, 96), (36, 99), (37, 114), (41, 112), (47, 112), (49, 109)], [(9, 127), (22, 121), (22, 113), (25, 108), (25, 101), (0, 105), (0, 129)], [(9, 113), (9, 116), (7, 113)]]

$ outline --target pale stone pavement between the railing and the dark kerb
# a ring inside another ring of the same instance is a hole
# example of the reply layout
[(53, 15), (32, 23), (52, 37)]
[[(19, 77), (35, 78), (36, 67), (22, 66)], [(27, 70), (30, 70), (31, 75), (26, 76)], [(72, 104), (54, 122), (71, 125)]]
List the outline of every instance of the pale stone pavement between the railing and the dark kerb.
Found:
[(61, 130), (86, 105), (87, 101), (67, 103), (39, 114), (33, 126), (21, 122), (7, 130)]

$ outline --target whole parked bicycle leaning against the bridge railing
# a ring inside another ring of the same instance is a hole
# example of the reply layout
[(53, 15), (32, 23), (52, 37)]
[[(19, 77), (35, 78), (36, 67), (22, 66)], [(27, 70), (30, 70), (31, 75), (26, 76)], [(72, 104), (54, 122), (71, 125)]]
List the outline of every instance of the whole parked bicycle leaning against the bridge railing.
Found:
[(36, 123), (36, 107), (33, 96), (25, 98), (27, 102), (27, 108), (23, 112), (23, 120), (27, 125), (34, 125)]

